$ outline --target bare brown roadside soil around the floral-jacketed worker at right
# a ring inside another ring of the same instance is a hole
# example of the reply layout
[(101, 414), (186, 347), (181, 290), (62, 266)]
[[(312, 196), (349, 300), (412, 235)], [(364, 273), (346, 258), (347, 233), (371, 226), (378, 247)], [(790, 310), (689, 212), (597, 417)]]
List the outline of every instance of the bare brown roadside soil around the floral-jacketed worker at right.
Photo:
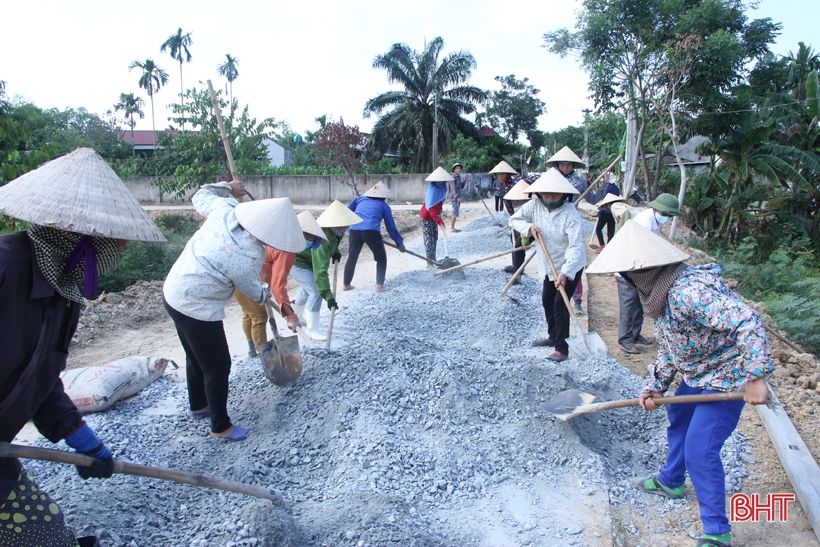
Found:
[[(685, 250), (692, 255), (692, 259), (688, 261), (690, 264), (714, 262), (711, 257), (697, 249), (685, 246)], [(596, 256), (594, 251), (588, 249), (587, 258), (590, 263)], [(646, 367), (657, 356), (657, 346), (643, 346), (644, 351), (639, 355), (630, 355), (620, 350), (617, 345), (620, 310), (615, 280), (608, 275), (591, 275), (587, 278), (592, 295), (592, 300), (588, 301), (590, 331), (597, 331), (601, 335), (609, 346), (612, 357), (635, 374), (644, 376)], [(731, 280), (728, 283), (732, 286)], [(765, 313), (759, 303), (751, 304), (758, 311)], [(642, 333), (647, 337), (653, 335), (654, 327), (650, 318), (645, 318)], [(781, 334), (785, 335), (785, 333)], [(817, 459), (820, 455), (820, 409), (818, 409), (820, 396), (815, 388), (820, 369), (813, 355), (799, 355), (774, 337), (769, 337), (769, 342), (775, 357), (775, 372), (769, 378), (769, 382), (812, 456)], [(794, 493), (763, 423), (751, 405), (746, 405), (744, 408), (738, 431), (747, 437), (747, 446), (752, 448), (749, 461), (747, 461), (749, 476), (743, 481), (741, 492), (747, 495)], [(645, 469), (644, 471), (646, 474), (652, 474), (657, 470)], [(651, 517), (637, 514), (628, 508), (613, 511), (613, 521), (634, 522), (641, 531), (641, 537), (635, 538), (625, 529), (622, 530), (619, 538), (623, 545), (630, 547), (647, 545), (644, 540), (648, 540), (650, 545), (664, 545), (662, 542), (666, 541), (670, 547), (690, 547), (694, 541), (690, 537), (690, 532), (696, 533), (699, 537), (701, 528), (698, 504), (692, 485), (687, 481), (686, 486), (688, 500), (685, 509), (668, 515), (665, 522), (657, 522)], [(727, 492), (727, 504), (728, 496)], [(791, 504), (789, 509), (789, 520), (785, 523), (765, 521), (734, 523), (732, 525), (732, 545), (736, 547), (739, 545), (760, 547), (820, 545), (799, 502)], [(658, 528), (666, 528), (667, 531), (654, 533), (653, 530)]]

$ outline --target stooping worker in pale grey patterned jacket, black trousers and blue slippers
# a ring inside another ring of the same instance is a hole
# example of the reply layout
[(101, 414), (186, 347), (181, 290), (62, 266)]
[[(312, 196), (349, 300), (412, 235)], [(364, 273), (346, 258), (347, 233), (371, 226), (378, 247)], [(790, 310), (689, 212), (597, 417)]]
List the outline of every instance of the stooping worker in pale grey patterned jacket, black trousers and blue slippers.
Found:
[(249, 430), (228, 415), (231, 354), (222, 319), (234, 291), (256, 304), (270, 298), (259, 281), (265, 245), (287, 252), (307, 242), (288, 198), (239, 203), (241, 181), (206, 184), (192, 203), (207, 220), (185, 245), (163, 286), (165, 309), (185, 349), (188, 415), (209, 419), (210, 434), (243, 441)]

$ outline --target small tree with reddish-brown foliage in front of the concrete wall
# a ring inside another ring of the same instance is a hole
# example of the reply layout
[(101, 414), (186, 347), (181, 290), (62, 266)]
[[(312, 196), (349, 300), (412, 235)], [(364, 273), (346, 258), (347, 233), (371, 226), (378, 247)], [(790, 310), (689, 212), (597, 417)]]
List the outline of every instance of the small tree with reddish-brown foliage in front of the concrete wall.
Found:
[(346, 184), (358, 196), (360, 194), (355, 175), (364, 172), (362, 156), (367, 145), (367, 135), (359, 131), (356, 125), (345, 125), (342, 118), (338, 122), (324, 116), (321, 119), (322, 128), (313, 135), (316, 161), (326, 167), (344, 169), (350, 178), (350, 182)]

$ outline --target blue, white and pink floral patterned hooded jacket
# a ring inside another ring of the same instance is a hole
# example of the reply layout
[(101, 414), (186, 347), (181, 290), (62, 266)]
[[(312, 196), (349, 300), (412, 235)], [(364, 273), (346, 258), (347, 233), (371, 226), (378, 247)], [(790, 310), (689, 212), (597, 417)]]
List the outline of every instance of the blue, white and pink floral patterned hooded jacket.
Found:
[(694, 388), (743, 391), (774, 370), (760, 315), (720, 277), (717, 264), (690, 266), (669, 289), (655, 319), (658, 359), (647, 369), (645, 392), (665, 392), (677, 372)]

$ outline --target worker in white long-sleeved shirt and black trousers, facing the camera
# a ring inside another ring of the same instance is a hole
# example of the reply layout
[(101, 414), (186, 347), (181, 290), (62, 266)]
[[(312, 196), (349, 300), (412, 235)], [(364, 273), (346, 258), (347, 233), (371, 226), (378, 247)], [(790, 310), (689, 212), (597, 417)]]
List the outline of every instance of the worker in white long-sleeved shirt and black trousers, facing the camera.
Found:
[(510, 217), (510, 227), (533, 240), (543, 237), (558, 275), (549, 267), (541, 245), (536, 244), (538, 272), (544, 280), (541, 303), (547, 320), (547, 338), (533, 342), (534, 346), (554, 348), (547, 359), (565, 361), (569, 357), (569, 311), (564, 306), (558, 287), (567, 295), (575, 291), (587, 265), (584, 251), (583, 221), (578, 209), (568, 197), (578, 195), (575, 189), (555, 169), (550, 169), (525, 190), (535, 198)]

